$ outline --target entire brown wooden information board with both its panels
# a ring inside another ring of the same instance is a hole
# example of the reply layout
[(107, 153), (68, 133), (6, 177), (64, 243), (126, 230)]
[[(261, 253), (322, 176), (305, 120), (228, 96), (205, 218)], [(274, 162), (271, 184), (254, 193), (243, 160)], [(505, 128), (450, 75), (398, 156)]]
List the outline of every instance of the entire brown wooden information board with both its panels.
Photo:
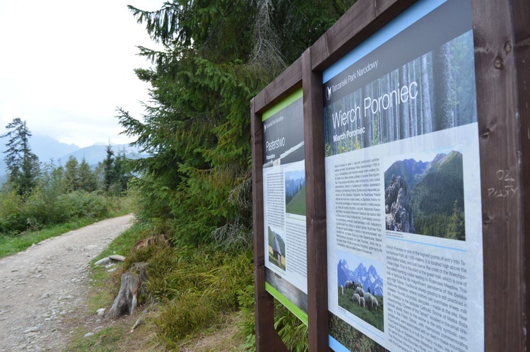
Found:
[[(252, 100), (258, 351), (285, 351), (273, 296), (310, 351), (528, 347), (528, 18), (523, 0), (360, 0)], [(288, 107), (303, 136), (282, 155), (304, 153), (274, 163)]]

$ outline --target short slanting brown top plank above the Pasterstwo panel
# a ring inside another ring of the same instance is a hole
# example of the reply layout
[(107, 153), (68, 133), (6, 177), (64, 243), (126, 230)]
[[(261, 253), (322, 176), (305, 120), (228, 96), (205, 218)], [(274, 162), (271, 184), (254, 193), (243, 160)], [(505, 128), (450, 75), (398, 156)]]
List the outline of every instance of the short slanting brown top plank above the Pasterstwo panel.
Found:
[(283, 98), (299, 89), (301, 83), (302, 59), (299, 58), (254, 97), (256, 112), (261, 114), (269, 107), (281, 102)]

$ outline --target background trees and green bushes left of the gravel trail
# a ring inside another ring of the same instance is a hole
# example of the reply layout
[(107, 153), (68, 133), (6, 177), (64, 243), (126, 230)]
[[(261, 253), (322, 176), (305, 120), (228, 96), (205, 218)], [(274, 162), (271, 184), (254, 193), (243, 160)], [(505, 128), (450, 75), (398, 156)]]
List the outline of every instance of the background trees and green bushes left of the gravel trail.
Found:
[(114, 153), (108, 145), (105, 160), (95, 169), (73, 156), (64, 166), (53, 160), (42, 163), (30, 148), (32, 134), (25, 121), (15, 118), (6, 129), (0, 136), (8, 171), (0, 187), (1, 236), (79, 218), (104, 218), (119, 207), (130, 177), (124, 153)]

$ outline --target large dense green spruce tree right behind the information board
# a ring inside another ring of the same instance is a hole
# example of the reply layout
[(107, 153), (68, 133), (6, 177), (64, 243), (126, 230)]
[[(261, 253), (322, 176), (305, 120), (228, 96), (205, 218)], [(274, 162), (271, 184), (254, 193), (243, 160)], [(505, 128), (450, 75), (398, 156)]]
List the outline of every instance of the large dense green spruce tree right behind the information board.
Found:
[(167, 1), (159, 11), (131, 8), (156, 42), (141, 47), (153, 69), (143, 121), (121, 110), (125, 134), (150, 156), (140, 218), (170, 225), (191, 242), (252, 243), (249, 102), (354, 1)]

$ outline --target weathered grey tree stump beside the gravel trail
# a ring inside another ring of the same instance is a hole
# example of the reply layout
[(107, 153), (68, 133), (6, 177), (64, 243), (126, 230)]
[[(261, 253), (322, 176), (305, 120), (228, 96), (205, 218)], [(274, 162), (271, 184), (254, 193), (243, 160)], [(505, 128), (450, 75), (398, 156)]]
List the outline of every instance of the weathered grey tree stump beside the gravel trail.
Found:
[(147, 281), (149, 281), (147, 263), (131, 264), (129, 270), (122, 275), (122, 285), (119, 287), (118, 295), (105, 317), (119, 318), (123, 315), (133, 315), (138, 305), (139, 293), (147, 293), (144, 285)]

